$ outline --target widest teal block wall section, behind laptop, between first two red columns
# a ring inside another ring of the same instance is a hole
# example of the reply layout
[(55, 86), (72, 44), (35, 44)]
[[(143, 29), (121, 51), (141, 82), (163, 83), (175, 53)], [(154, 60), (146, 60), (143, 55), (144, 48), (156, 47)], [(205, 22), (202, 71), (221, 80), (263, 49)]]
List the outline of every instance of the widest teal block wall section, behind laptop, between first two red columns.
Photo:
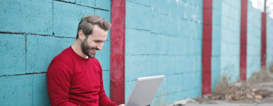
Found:
[(125, 99), (138, 77), (165, 75), (160, 106), (201, 95), (203, 0), (126, 0)]

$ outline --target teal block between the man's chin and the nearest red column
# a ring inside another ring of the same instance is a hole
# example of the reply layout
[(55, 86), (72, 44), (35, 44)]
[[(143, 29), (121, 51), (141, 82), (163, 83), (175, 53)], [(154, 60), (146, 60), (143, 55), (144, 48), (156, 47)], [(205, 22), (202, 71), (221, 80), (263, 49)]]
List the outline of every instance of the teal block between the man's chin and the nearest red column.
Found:
[(96, 58), (103, 70), (110, 70), (110, 41), (105, 41), (102, 51), (97, 51)]

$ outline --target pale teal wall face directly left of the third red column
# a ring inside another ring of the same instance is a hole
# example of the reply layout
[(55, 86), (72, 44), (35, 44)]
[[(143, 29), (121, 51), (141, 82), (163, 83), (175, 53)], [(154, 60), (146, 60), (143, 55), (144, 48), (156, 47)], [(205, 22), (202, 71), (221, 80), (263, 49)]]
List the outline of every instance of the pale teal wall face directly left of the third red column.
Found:
[(221, 12), (221, 77), (234, 82), (240, 79), (241, 1), (222, 0)]

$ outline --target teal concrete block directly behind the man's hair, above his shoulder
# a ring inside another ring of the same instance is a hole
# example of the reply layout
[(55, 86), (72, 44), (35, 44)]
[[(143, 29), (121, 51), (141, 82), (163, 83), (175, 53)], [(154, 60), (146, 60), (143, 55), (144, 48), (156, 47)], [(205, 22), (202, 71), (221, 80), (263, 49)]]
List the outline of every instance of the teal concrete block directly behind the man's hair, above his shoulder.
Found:
[(75, 37), (83, 15), (94, 14), (94, 8), (53, 1), (54, 36)]

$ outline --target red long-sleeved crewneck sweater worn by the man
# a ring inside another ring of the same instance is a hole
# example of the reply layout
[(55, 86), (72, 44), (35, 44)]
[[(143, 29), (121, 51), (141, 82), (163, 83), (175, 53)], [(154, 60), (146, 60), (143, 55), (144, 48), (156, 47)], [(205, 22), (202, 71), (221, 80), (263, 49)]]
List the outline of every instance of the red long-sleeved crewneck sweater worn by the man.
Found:
[(117, 106), (105, 94), (99, 61), (71, 46), (53, 58), (46, 77), (51, 106)]

